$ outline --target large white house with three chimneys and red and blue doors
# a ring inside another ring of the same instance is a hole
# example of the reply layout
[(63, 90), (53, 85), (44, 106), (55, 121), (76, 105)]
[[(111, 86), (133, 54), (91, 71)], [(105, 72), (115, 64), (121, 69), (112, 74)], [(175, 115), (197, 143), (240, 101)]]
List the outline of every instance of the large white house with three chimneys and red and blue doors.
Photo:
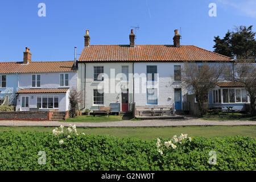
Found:
[[(125, 104), (135, 102), (136, 106), (174, 106), (182, 110), (188, 92), (181, 88), (184, 61), (232, 61), (196, 46), (180, 46), (177, 30), (174, 45), (135, 45), (133, 30), (129, 38), (129, 45), (90, 45), (86, 30), (85, 47), (78, 61), (78, 89), (85, 90), (80, 109), (97, 110), (119, 103), (120, 111), (129, 111)], [(129, 75), (127, 84), (119, 75)]]

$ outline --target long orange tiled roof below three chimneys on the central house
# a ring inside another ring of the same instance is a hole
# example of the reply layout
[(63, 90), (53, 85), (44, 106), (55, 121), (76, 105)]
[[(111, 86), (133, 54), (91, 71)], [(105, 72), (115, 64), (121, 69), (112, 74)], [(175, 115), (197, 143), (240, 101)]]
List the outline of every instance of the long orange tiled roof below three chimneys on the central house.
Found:
[(231, 61), (231, 59), (196, 46), (90, 45), (84, 47), (79, 61)]

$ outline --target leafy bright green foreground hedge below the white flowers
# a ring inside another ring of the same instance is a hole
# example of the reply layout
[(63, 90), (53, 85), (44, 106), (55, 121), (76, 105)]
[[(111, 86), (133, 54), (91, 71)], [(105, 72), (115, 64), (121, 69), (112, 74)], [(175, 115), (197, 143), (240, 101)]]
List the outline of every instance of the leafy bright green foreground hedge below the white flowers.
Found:
[[(160, 155), (156, 139), (5, 131), (0, 132), (0, 170), (255, 170), (255, 148), (249, 137), (195, 137)], [(216, 165), (208, 163), (212, 150)], [(38, 164), (39, 151), (46, 152), (46, 165)]]

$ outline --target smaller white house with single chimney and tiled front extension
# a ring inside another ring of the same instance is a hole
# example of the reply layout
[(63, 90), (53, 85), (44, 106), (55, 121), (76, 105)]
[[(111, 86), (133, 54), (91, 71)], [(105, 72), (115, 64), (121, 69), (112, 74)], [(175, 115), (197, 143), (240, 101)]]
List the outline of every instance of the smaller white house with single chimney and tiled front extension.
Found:
[(69, 90), (77, 89), (74, 61), (31, 61), (27, 48), (17, 73), (16, 111), (69, 110)]

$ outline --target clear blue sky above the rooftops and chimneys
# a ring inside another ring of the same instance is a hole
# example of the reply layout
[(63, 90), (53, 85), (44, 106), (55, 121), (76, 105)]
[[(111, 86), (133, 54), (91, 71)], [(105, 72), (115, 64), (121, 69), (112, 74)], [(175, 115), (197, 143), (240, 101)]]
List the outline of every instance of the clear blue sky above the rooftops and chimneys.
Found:
[[(46, 17), (39, 17), (39, 3)], [(217, 16), (210, 17), (209, 3)], [(85, 30), (90, 44), (129, 44), (131, 26), (139, 26), (136, 44), (173, 44), (181, 27), (181, 44), (213, 51), (214, 36), (234, 26), (253, 25), (255, 0), (23, 0), (0, 3), (0, 61), (22, 61), (29, 47), (33, 61), (73, 60), (84, 47)]]

